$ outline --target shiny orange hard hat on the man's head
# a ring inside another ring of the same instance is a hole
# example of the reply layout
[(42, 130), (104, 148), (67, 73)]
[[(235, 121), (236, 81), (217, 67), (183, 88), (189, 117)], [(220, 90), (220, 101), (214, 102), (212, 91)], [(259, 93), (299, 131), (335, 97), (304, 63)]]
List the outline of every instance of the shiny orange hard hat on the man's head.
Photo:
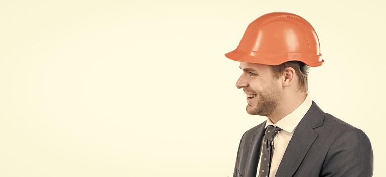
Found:
[(225, 56), (266, 65), (296, 60), (320, 66), (324, 62), (314, 28), (304, 18), (287, 12), (268, 13), (251, 22), (237, 48)]

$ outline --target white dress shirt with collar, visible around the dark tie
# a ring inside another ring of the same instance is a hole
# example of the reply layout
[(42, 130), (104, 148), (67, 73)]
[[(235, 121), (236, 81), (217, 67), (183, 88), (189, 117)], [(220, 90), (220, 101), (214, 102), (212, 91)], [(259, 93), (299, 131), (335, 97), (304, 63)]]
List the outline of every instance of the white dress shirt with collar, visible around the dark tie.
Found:
[[(268, 125), (273, 125), (274, 127), (278, 126), (282, 130), (279, 131), (275, 138), (273, 139), (273, 156), (272, 156), (272, 162), (271, 162), (271, 169), (269, 172), (269, 177), (274, 177), (277, 172), (277, 168), (280, 165), (281, 159), (284, 156), (285, 150), (287, 149), (289, 140), (291, 140), (292, 135), (294, 134), (294, 131), (296, 127), (298, 126), (300, 120), (302, 120), (303, 116), (306, 114), (308, 109), (310, 109), (312, 104), (312, 100), (310, 97), (310, 93), (307, 92), (306, 99), (303, 101), (302, 104), (300, 104), (294, 111), (286, 115), (284, 118), (279, 120), (276, 124), (273, 124), (271, 120), (267, 117), (267, 123), (264, 128), (267, 128)], [(264, 141), (264, 138), (263, 140)], [(263, 142), (261, 142), (261, 148), (263, 146)], [(260, 149), (261, 149), (260, 148)], [(261, 155), (259, 158), (259, 163), (257, 165), (257, 176), (259, 176), (260, 171), (260, 160)], [(265, 176), (260, 176), (265, 177)]]

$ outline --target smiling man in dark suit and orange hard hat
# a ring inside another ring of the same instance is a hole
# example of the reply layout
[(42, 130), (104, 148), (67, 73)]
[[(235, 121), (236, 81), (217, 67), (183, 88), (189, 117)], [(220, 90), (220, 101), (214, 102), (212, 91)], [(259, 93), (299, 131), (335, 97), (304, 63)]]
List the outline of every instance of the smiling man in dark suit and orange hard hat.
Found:
[(240, 61), (236, 87), (246, 111), (266, 116), (246, 131), (233, 176), (372, 176), (366, 134), (323, 112), (307, 89), (309, 66), (321, 66), (319, 39), (302, 17), (265, 14), (249, 24), (238, 47), (225, 54)]

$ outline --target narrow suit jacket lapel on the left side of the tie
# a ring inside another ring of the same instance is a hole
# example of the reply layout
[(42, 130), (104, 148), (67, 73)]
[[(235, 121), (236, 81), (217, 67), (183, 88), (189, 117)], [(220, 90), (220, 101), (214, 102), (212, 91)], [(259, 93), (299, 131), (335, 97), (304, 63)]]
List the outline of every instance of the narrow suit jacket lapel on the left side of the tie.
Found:
[(267, 121), (262, 123), (257, 131), (252, 135), (250, 144), (251, 149), (249, 150), (247, 156), (245, 175), (243, 175), (243, 177), (256, 177), (257, 162), (260, 158), (261, 140), (264, 135), (264, 126), (266, 123)]

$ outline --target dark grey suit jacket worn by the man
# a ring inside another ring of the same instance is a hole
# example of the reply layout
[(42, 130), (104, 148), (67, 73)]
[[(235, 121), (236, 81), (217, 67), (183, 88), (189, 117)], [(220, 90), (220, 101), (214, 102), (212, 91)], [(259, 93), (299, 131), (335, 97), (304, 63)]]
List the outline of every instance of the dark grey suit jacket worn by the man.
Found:
[[(246, 131), (233, 176), (255, 177), (267, 121)], [(373, 151), (366, 134), (324, 113), (314, 101), (296, 127), (276, 177), (372, 176)]]

